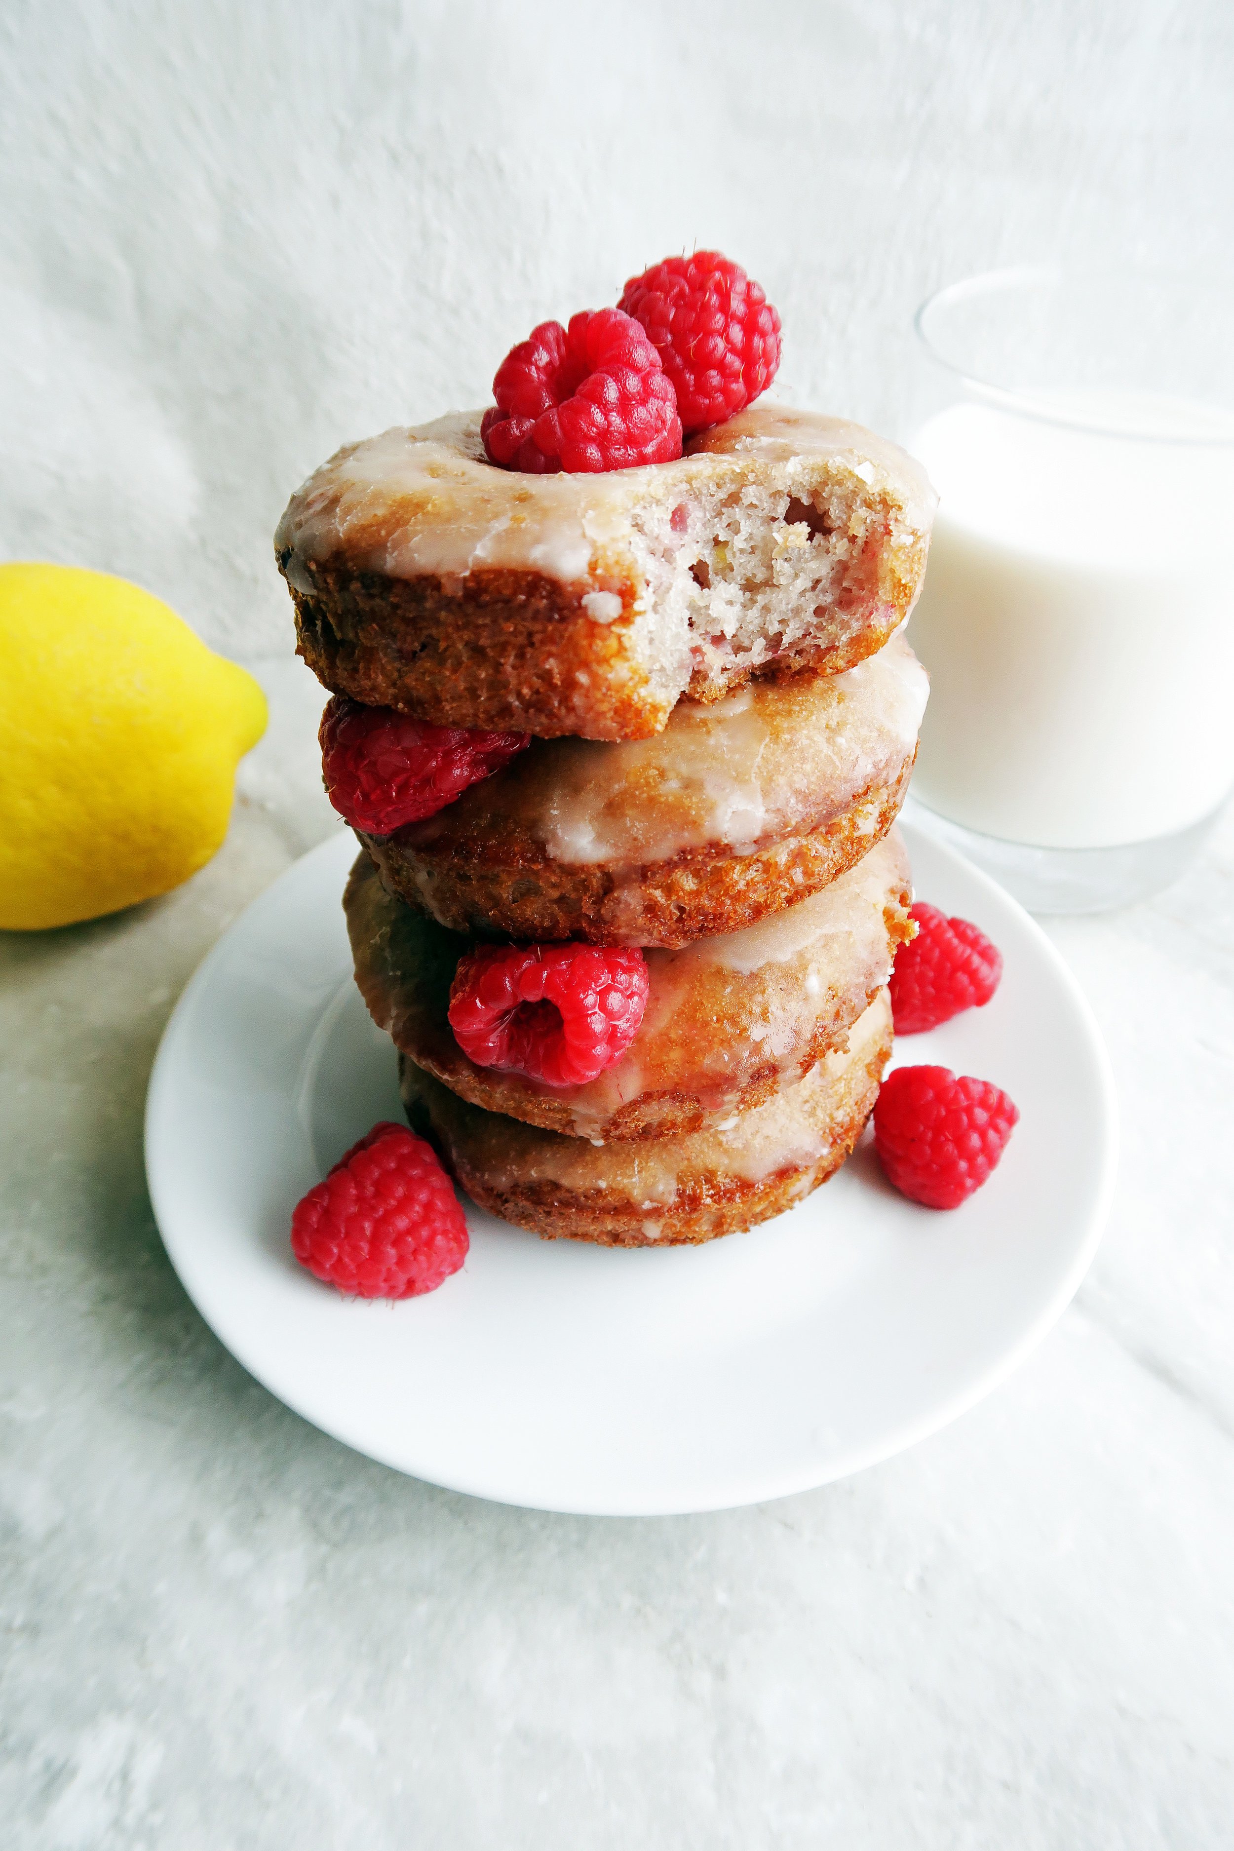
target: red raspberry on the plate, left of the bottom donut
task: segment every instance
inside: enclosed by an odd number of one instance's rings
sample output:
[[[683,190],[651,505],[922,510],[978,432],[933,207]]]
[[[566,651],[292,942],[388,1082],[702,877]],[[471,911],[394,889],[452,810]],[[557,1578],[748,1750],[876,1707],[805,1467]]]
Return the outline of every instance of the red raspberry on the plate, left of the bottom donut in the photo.
[[[420,1298],[463,1266],[468,1238],[433,1148],[383,1122],[296,1203],[290,1246],[340,1292]]]

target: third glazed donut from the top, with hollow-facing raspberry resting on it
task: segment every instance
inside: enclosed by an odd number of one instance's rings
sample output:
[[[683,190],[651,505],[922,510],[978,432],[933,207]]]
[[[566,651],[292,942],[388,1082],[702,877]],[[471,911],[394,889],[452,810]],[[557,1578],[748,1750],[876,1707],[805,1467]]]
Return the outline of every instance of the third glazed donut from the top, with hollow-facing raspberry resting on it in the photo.
[[[450,1029],[450,985],[474,938],[392,900],[366,855],[342,901],[355,981],[401,1053],[472,1105],[594,1144],[714,1129],[845,1048],[912,935],[910,903],[892,835],[759,926],[648,951],[648,1009],[629,1050],[585,1087],[546,1087],[475,1066]]]

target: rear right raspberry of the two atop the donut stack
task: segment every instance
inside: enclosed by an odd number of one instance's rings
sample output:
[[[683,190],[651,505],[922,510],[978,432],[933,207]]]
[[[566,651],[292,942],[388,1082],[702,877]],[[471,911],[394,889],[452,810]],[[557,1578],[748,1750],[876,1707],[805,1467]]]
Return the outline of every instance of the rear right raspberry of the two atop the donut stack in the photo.
[[[659,348],[686,437],[723,424],[775,378],[781,318],[740,263],[718,250],[666,257],[631,276],[620,305]]]

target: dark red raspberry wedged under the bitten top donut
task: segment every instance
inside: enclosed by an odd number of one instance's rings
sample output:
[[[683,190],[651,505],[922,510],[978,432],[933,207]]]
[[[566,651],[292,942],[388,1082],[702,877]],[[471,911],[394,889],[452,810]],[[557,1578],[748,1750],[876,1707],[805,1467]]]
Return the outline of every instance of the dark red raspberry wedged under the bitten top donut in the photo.
[[[531,744],[529,733],[426,726],[396,707],[361,707],[346,694],[326,703],[318,739],[329,801],[368,835],[392,835],[405,822],[435,816]]]

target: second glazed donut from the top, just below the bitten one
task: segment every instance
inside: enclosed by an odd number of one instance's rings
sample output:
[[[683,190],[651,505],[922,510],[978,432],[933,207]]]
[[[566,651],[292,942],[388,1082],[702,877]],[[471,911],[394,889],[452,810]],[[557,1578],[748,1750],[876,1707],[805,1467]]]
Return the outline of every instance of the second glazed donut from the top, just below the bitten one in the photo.
[[[453,931],[679,948],[805,900],[886,835],[927,692],[895,637],[840,676],[683,702],[648,740],[533,740],[437,816],[361,840]]]

